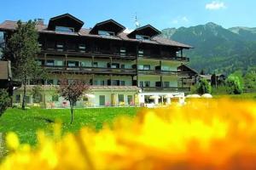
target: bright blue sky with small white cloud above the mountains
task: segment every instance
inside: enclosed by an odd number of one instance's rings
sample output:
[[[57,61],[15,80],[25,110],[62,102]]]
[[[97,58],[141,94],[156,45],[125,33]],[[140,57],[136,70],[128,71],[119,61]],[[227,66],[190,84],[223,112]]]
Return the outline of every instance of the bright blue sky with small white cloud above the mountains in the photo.
[[[255,0],[3,0],[0,22],[29,20],[59,14],[73,14],[92,27],[102,20],[117,20],[134,29],[134,18],[140,24],[167,27],[196,26],[215,22],[226,28],[256,27]]]

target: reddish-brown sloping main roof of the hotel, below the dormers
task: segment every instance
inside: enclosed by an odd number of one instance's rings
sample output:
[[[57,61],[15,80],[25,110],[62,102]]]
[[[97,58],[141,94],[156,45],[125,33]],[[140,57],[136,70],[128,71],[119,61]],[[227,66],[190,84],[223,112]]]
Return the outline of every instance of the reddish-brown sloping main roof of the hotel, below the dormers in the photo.
[[[16,21],[6,20],[2,24],[0,24],[0,31],[15,31],[17,26]],[[107,39],[114,39],[114,40],[124,40],[130,42],[143,42],[143,43],[153,43],[153,44],[160,44],[166,46],[174,46],[178,48],[192,48],[189,45],[175,42],[170,39],[166,39],[164,37],[153,37],[150,40],[137,40],[135,38],[128,37],[127,33],[121,32],[117,36],[108,36],[102,37],[100,35],[90,34],[90,29],[81,28],[79,32],[61,32],[61,31],[52,31],[48,30],[48,26],[46,25],[36,25],[39,33],[49,33],[49,34],[60,34],[60,35],[68,35],[68,36],[80,36],[80,37],[97,37],[97,38],[107,38]]]

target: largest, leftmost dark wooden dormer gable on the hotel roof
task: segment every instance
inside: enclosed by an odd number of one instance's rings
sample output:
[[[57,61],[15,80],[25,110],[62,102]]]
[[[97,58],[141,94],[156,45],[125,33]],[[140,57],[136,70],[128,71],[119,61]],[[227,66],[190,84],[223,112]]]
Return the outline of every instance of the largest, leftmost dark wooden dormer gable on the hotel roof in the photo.
[[[78,32],[82,26],[84,26],[84,22],[77,19],[72,14],[61,14],[49,20],[48,29],[55,30],[55,26],[73,27],[74,30]]]

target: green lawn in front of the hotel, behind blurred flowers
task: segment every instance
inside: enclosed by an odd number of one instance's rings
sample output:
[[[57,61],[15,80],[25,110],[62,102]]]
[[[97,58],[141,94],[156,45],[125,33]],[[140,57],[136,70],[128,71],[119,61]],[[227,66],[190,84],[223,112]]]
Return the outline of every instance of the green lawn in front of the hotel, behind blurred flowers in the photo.
[[[0,118],[0,132],[18,133],[21,143],[35,144],[38,129],[49,131],[52,122],[59,119],[63,122],[64,132],[76,132],[80,127],[89,126],[96,130],[103,123],[111,123],[116,116],[135,116],[137,108],[96,108],[77,109],[74,122],[70,125],[70,110],[9,109]]]

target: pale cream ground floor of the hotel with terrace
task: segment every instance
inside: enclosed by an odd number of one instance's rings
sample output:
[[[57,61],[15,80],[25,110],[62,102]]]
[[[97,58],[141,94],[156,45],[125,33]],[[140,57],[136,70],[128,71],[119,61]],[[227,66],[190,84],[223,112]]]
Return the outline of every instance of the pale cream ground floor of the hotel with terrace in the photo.
[[[27,86],[26,105],[40,106],[42,108],[68,108],[69,102],[56,92],[55,85],[44,85],[41,87],[39,97],[32,95],[33,85]],[[14,92],[13,105],[19,106],[23,99],[22,87]],[[172,102],[183,103],[183,92],[154,91],[145,92],[136,86],[90,86],[90,91],[76,102],[75,107],[129,107],[171,105]]]

